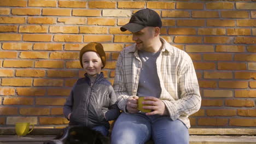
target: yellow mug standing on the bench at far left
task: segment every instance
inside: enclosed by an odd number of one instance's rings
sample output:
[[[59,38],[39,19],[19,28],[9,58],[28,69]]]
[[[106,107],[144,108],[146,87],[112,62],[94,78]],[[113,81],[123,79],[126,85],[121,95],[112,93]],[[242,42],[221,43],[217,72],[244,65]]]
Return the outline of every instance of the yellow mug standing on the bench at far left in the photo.
[[[32,129],[30,130],[30,123],[16,123],[15,131],[18,136],[25,136],[30,133],[34,129],[34,125],[32,124]],[[30,131],[28,131],[30,130]]]

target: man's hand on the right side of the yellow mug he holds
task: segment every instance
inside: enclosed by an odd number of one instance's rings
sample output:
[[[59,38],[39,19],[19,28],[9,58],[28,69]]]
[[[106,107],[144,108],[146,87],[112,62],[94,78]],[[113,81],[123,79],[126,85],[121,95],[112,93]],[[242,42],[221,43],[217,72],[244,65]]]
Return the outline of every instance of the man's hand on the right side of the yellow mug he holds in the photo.
[[[144,100],[148,101],[143,101],[142,104],[150,105],[150,106],[143,106],[143,109],[149,109],[153,110],[152,112],[147,112],[147,116],[151,115],[168,115],[168,110],[165,107],[164,102],[162,100],[155,98],[155,97],[144,97]]]

